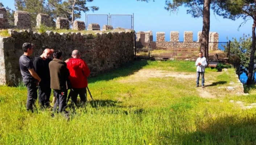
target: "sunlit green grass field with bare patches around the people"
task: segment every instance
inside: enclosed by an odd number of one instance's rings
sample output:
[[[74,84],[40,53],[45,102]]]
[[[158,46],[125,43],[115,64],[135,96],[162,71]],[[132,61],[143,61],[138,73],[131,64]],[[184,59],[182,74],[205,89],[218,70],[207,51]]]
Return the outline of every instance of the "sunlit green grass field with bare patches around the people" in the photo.
[[[207,68],[205,88],[195,77],[191,61],[135,61],[89,78],[94,101],[69,121],[26,112],[26,88],[0,86],[0,144],[255,145],[255,86],[244,95],[233,68]]]

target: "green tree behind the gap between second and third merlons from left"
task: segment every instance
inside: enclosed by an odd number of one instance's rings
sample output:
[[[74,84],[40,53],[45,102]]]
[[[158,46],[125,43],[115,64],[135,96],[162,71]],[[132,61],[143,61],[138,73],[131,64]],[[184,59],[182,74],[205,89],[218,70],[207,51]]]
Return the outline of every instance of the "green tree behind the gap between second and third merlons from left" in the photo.
[[[29,12],[32,18],[32,26],[36,26],[37,14],[48,14],[45,0],[15,0],[15,8]]]

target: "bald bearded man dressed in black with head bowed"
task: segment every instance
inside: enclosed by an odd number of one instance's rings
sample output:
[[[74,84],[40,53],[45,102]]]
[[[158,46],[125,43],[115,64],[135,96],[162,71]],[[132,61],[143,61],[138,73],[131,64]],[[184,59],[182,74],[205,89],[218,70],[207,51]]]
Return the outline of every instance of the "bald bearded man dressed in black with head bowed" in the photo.
[[[50,106],[50,70],[49,63],[52,59],[50,59],[50,55],[53,50],[46,48],[42,55],[38,56],[34,60],[34,68],[38,76],[42,79],[42,81],[38,85],[38,102],[41,108]]]

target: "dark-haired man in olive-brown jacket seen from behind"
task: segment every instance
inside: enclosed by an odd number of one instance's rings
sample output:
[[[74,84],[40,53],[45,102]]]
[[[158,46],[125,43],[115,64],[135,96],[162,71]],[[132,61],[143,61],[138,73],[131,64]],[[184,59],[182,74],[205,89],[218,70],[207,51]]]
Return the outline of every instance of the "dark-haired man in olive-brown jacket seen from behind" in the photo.
[[[67,113],[65,110],[67,104],[67,79],[69,77],[69,70],[67,64],[62,61],[62,52],[60,50],[53,51],[53,60],[49,63],[50,77],[51,77],[51,89],[53,89],[56,95],[56,102],[53,107],[53,111],[56,111],[57,106],[59,112]]]

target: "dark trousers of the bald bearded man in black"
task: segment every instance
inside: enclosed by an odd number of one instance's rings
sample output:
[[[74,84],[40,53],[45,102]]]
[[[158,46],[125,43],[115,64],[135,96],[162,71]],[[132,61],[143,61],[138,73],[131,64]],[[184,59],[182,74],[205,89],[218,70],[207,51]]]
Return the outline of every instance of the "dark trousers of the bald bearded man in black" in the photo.
[[[41,108],[50,106],[50,95],[51,95],[50,85],[40,84],[38,86],[38,102]]]

